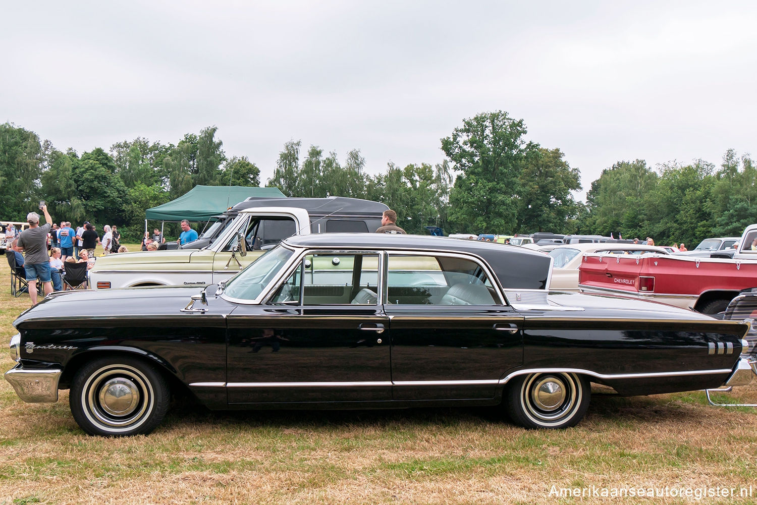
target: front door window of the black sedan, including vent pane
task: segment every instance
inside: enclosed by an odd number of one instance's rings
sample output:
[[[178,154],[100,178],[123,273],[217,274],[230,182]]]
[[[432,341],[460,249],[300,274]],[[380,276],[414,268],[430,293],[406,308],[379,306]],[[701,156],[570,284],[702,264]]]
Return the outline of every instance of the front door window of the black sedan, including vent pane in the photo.
[[[378,303],[378,254],[306,254],[269,303],[333,305]]]

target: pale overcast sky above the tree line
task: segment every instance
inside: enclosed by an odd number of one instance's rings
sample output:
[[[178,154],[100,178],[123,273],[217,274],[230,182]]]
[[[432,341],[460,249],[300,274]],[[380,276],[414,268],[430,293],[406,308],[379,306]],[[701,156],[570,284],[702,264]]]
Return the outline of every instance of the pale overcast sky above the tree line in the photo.
[[[585,192],[757,154],[755,26],[757,2],[4,2],[0,122],[79,154],[215,125],[265,182],[290,139],[379,173],[502,110]]]

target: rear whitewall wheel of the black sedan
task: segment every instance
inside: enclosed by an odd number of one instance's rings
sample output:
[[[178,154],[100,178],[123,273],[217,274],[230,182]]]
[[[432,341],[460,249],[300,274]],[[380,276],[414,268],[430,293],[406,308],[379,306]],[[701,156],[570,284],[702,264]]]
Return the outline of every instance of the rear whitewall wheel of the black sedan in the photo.
[[[507,410],[525,428],[569,428],[584,417],[590,384],[576,373],[531,373],[512,379]]]

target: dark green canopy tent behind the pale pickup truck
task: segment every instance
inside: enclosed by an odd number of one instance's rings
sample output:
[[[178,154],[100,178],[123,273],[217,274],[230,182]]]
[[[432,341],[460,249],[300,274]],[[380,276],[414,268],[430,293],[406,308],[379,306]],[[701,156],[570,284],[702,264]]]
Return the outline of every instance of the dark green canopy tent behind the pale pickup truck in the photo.
[[[223,214],[248,197],[286,197],[279,188],[255,188],[251,186],[196,185],[176,200],[152,207],[145,211],[145,232],[148,220],[156,221],[207,221]],[[160,226],[163,232],[163,226]]]

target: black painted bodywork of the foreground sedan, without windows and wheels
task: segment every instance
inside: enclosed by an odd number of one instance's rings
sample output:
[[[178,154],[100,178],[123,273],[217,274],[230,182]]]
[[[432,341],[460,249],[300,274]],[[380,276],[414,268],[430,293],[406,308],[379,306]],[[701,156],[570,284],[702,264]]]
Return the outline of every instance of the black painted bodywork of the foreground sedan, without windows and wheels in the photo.
[[[548,257],[506,245],[335,236],[344,249],[470,254],[487,262],[505,289],[547,282]],[[329,240],[308,235],[285,242],[312,250],[329,247]],[[494,405],[506,379],[531,369],[587,371],[620,394],[715,387],[730,375],[747,329],[625,298],[559,292],[550,295],[549,309],[291,307],[238,304],[213,296],[215,289],[205,288],[202,312],[182,312],[200,286],[54,295],[14,322],[20,366],[62,367],[59,387],[67,388],[83,363],[132,355],[154,363],[211,409]],[[734,354],[709,354],[712,342],[730,343]],[[724,371],[696,373],[710,369]],[[644,373],[681,375],[612,377]]]

